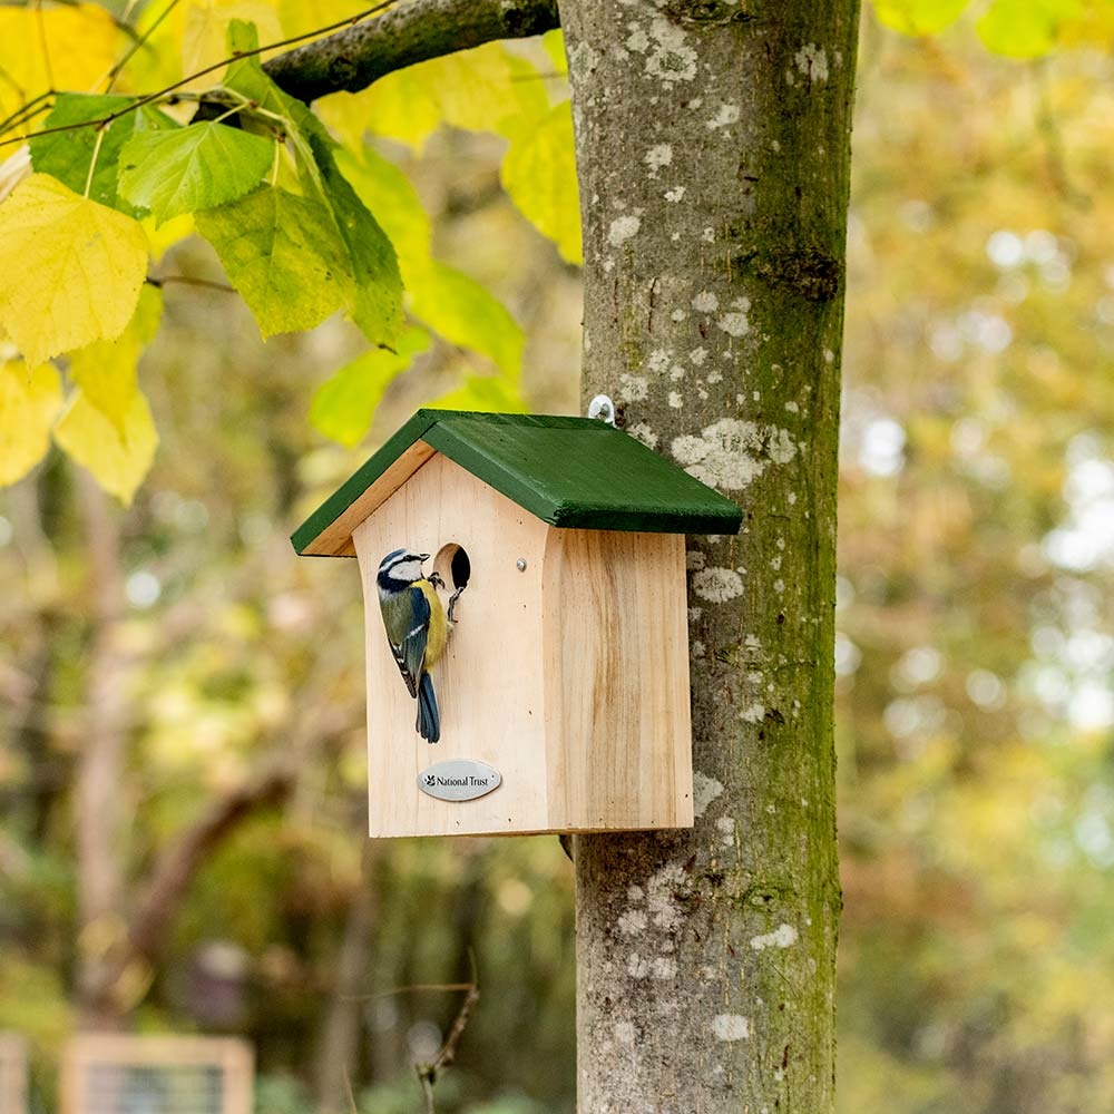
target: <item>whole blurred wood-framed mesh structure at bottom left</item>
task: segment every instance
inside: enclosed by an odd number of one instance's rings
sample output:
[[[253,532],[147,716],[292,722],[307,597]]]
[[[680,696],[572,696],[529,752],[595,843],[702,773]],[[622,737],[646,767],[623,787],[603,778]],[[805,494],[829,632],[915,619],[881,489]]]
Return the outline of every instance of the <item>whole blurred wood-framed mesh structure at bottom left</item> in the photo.
[[[254,1054],[231,1037],[82,1034],[62,1056],[60,1114],[252,1114]]]

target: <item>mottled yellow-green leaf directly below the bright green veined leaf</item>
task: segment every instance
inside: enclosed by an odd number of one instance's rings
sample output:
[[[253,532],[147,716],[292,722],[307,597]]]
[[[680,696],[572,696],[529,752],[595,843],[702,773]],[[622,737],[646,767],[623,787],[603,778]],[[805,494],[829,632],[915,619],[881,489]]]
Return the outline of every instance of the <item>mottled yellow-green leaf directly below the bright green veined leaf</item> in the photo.
[[[312,329],[343,304],[351,276],[320,202],[264,186],[196,219],[265,338]]]

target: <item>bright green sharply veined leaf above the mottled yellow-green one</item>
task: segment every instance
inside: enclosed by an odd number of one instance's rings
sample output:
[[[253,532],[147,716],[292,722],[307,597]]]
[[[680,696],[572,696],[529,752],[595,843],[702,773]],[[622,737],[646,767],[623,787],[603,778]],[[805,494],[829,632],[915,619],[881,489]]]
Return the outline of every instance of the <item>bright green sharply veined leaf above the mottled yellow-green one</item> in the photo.
[[[120,196],[162,224],[242,197],[271,169],[274,153],[272,139],[213,121],[140,131],[120,152]]]

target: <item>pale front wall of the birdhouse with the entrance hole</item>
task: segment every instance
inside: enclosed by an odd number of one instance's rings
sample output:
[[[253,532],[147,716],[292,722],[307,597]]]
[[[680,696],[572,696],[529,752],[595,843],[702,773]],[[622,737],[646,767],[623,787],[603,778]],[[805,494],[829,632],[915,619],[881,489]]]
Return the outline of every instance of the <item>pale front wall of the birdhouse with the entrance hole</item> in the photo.
[[[371,836],[550,829],[540,615],[546,530],[441,455],[356,528],[367,618]],[[430,744],[414,730],[416,703],[388,647],[375,575],[383,556],[400,546],[436,558],[450,544],[467,551],[471,579],[444,657],[431,673],[441,740]],[[519,559],[525,570],[517,568]],[[450,759],[486,762],[502,774],[502,784],[462,802],[419,791],[418,774]]]

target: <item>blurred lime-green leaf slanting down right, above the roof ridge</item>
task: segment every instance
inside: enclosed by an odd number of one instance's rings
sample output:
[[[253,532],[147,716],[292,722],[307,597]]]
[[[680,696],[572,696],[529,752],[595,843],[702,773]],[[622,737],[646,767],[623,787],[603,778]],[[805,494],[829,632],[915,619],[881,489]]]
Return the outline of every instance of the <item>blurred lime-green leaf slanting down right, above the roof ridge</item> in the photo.
[[[450,343],[486,355],[509,380],[518,381],[521,326],[475,278],[434,262],[411,293],[416,317]]]

